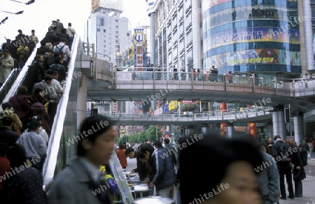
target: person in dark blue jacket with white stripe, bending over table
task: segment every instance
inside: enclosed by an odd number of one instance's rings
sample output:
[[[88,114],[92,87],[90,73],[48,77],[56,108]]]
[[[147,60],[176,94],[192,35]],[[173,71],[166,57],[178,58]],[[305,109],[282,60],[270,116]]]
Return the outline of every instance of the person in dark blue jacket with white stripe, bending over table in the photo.
[[[177,176],[167,153],[165,149],[154,149],[152,145],[144,144],[140,147],[138,158],[151,167],[144,183],[147,183],[149,188],[155,186],[158,196],[171,198],[171,190],[177,182]]]

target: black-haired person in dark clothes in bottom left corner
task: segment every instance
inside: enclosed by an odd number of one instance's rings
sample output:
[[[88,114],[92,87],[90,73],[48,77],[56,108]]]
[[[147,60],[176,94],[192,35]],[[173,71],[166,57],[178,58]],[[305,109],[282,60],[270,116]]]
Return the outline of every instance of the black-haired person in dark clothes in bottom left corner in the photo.
[[[6,157],[12,170],[3,182],[0,203],[45,204],[43,179],[36,168],[27,164],[25,148],[15,143],[8,149]]]

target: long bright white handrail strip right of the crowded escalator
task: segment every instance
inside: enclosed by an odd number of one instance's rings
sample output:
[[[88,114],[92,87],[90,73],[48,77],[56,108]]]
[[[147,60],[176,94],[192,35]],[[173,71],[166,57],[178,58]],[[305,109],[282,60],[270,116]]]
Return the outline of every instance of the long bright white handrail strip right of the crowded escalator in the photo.
[[[69,94],[71,89],[72,76],[74,71],[74,64],[76,61],[76,55],[78,52],[78,45],[80,37],[75,35],[73,38],[73,45],[71,49],[71,60],[69,62],[68,76],[66,78],[66,84],[64,85],[64,94],[57,106],[57,112],[55,115],[54,123],[52,125],[50,139],[48,142],[47,154],[45,163],[43,165],[43,190],[48,191],[50,183],[55,175],[55,168],[57,165],[57,156],[60,147],[60,140],[62,138],[62,131],[64,126],[64,118],[66,117],[66,108],[69,101]]]

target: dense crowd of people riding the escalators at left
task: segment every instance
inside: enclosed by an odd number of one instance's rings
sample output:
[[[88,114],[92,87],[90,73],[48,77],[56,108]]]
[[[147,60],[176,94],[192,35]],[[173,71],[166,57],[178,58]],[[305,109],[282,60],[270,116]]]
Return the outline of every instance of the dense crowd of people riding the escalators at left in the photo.
[[[41,171],[76,34],[68,25],[53,20],[41,41],[34,29],[29,36],[19,29],[15,41],[7,38],[1,47],[0,85],[13,68],[28,70],[16,94],[1,104],[0,203],[45,203]],[[27,67],[31,52],[36,57]]]

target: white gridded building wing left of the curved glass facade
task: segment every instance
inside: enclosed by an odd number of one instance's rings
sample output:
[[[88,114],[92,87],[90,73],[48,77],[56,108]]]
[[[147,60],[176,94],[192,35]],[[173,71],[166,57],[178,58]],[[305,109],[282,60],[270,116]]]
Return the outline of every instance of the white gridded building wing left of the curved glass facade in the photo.
[[[176,66],[180,71],[202,68],[200,0],[148,2],[151,58],[155,66]]]

